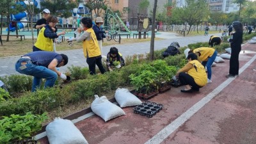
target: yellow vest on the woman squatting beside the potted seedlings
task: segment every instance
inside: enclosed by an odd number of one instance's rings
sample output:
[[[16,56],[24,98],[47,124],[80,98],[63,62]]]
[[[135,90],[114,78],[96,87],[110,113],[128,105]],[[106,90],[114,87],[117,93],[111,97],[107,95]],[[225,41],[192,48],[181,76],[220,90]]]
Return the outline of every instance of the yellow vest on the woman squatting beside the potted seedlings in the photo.
[[[193,65],[193,68],[188,70],[189,76],[194,78],[198,86],[205,86],[207,84],[207,75],[204,66],[198,60],[189,61],[189,63]]]

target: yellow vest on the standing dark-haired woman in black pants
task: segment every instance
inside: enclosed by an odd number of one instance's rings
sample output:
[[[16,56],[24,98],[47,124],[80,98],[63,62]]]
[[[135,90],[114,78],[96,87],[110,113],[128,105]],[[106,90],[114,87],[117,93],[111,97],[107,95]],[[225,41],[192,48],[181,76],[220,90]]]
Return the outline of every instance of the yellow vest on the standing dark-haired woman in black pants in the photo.
[[[93,29],[86,29],[86,32],[90,34],[90,38],[86,38],[86,40],[83,41],[83,51],[85,58],[100,56],[100,47]]]

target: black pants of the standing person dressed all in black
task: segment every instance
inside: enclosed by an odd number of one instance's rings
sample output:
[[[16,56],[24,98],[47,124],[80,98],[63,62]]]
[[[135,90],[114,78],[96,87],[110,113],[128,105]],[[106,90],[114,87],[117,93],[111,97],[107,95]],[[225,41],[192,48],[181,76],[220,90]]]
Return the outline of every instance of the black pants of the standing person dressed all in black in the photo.
[[[231,56],[229,61],[229,74],[238,75],[239,74],[239,53],[241,51],[240,45],[231,45]]]

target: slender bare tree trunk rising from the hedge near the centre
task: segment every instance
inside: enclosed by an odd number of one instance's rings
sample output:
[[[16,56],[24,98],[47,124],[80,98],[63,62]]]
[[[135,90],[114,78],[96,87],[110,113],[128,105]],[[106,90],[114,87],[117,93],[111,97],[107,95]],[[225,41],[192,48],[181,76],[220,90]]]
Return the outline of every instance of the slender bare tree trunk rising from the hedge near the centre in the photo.
[[[152,17],[152,28],[151,28],[151,40],[150,40],[150,57],[149,60],[154,60],[154,43],[155,43],[155,21],[156,21],[156,7],[157,7],[157,0],[155,0],[154,8],[153,8],[153,17]]]

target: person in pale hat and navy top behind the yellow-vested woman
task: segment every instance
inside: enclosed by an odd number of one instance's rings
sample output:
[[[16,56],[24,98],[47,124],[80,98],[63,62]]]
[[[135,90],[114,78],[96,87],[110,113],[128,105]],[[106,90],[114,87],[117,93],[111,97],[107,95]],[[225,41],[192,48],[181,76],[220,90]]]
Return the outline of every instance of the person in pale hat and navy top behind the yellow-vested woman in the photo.
[[[97,17],[96,18],[96,24],[93,26],[93,31],[94,31],[94,33],[97,37],[101,53],[102,53],[102,39],[106,38],[104,33],[108,33],[108,31],[102,31],[102,29],[100,28],[100,26],[102,26],[103,23],[104,22],[103,22],[102,18]]]

